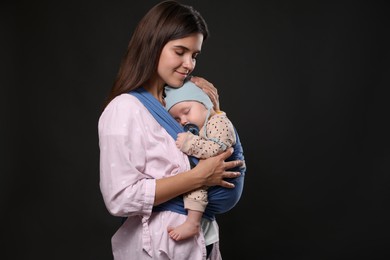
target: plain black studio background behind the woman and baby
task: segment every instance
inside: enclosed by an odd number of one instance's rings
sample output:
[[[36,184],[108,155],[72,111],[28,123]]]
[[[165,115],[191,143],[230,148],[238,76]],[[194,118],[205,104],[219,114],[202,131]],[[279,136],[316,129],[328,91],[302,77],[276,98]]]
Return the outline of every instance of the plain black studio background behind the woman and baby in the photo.
[[[112,259],[97,120],[157,2],[0,4],[2,259]],[[387,1],[182,2],[248,167],[217,217],[224,260],[388,259]]]

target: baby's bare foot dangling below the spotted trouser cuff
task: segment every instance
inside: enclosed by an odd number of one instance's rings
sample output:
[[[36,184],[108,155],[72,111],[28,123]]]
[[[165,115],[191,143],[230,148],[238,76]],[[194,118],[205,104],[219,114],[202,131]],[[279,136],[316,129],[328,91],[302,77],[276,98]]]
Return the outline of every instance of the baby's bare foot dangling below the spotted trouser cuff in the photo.
[[[169,236],[176,241],[193,237],[200,232],[200,221],[203,213],[196,210],[188,210],[188,216],[183,224],[168,228]]]

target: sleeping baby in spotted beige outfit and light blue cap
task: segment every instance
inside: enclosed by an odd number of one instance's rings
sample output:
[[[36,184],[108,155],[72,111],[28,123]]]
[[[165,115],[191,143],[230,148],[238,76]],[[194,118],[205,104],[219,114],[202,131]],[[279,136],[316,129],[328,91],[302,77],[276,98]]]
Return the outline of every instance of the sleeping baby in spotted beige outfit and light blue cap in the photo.
[[[202,159],[218,155],[235,144],[235,130],[226,113],[215,111],[208,95],[193,82],[187,81],[180,88],[166,86],[165,95],[165,108],[173,118],[184,127],[199,129],[178,134],[176,146],[182,152]],[[199,233],[208,203],[207,187],[185,194],[183,199],[188,210],[187,219],[168,229],[170,237],[177,241]]]

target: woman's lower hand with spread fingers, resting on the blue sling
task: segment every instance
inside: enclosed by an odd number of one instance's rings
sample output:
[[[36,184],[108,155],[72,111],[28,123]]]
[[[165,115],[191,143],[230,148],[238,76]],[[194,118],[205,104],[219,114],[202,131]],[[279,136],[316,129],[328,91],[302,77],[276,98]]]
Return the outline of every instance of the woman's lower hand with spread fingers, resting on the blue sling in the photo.
[[[202,174],[202,176],[205,178],[204,185],[219,185],[225,188],[234,188],[234,184],[224,179],[240,176],[240,172],[232,172],[228,170],[243,165],[243,161],[236,160],[225,162],[225,160],[229,158],[232,153],[233,148],[229,148],[220,155],[213,156],[208,159],[199,160],[199,163],[197,164],[195,169],[199,171],[199,174]]]

